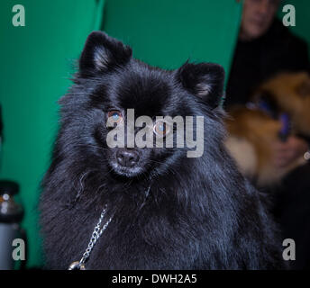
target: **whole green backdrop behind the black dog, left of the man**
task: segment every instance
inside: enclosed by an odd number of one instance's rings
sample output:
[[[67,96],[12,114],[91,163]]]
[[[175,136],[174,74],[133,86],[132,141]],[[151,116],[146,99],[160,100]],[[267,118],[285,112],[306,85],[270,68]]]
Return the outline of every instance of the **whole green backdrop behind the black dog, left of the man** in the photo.
[[[14,4],[24,5],[25,27],[12,25]],[[227,71],[241,8],[232,0],[0,2],[0,103],[5,123],[0,178],[21,184],[28,266],[42,262],[36,205],[58,126],[57,100],[70,85],[74,59],[89,31],[104,29],[131,44],[134,56],[151,65],[175,68],[190,58],[218,62]]]

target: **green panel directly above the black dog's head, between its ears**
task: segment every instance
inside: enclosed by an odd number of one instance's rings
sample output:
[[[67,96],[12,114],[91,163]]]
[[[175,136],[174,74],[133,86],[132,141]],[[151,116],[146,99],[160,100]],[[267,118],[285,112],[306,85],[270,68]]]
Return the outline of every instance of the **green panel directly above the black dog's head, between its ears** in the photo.
[[[176,68],[189,58],[228,71],[241,10],[232,0],[107,0],[103,30],[150,65]]]

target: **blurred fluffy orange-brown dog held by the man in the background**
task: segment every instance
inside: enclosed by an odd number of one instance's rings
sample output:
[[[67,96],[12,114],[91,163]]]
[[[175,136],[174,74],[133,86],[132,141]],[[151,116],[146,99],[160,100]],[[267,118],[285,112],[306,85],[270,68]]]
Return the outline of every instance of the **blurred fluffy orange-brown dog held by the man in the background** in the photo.
[[[307,73],[283,73],[259,87],[254,103],[268,95],[278,112],[290,116],[293,134],[310,136],[310,76]],[[282,168],[273,166],[271,145],[278,140],[281,122],[266,112],[235,106],[229,111],[226,146],[242,173],[260,185],[277,183],[287,172],[305,164],[304,157]]]

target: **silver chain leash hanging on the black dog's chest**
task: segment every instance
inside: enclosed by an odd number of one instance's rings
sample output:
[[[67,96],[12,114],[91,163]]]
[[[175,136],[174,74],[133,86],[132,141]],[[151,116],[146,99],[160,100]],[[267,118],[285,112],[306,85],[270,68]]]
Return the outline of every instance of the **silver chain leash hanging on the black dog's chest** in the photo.
[[[90,256],[90,253],[93,250],[96,244],[96,241],[98,240],[98,238],[100,238],[100,236],[102,235],[102,233],[105,231],[105,229],[107,228],[107,226],[112,220],[112,217],[111,217],[109,220],[105,222],[105,225],[102,228],[100,228],[101,222],[105,217],[105,212],[106,212],[106,206],[105,206],[105,209],[101,212],[98,223],[96,224],[92,237],[89,240],[87,249],[85,250],[82,258],[79,261],[75,261],[71,263],[70,266],[68,266],[68,270],[86,270],[85,263],[87,262],[87,259]]]

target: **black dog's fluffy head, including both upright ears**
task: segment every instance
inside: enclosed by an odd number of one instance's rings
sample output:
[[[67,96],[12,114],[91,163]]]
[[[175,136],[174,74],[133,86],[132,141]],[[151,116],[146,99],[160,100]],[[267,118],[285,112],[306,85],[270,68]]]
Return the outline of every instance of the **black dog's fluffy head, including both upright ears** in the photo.
[[[185,120],[212,111],[223,92],[223,68],[209,63],[186,63],[174,71],[149,67],[132,58],[128,46],[97,31],[88,36],[75,82],[60,104],[63,118],[77,119],[79,153],[91,155],[113,175],[132,178],[167,173],[187,157],[187,147],[177,147],[178,125],[159,118]],[[141,117],[147,121],[139,124]],[[168,137],[172,148],[157,147],[157,141],[165,147]]]

